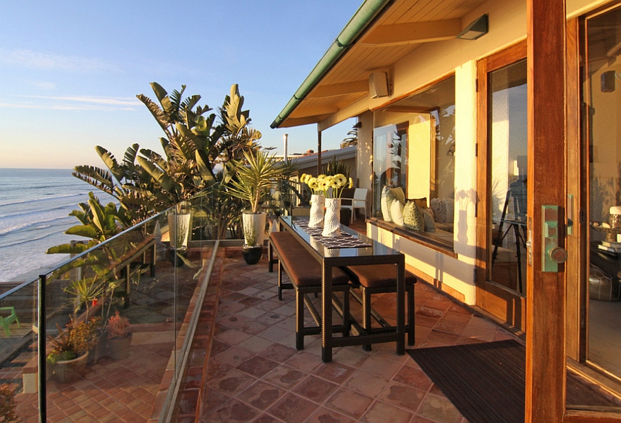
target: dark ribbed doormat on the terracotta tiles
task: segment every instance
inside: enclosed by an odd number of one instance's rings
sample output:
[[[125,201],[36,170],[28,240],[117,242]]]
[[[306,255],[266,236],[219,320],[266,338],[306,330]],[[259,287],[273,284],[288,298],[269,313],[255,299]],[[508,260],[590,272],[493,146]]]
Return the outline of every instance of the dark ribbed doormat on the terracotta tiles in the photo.
[[[524,346],[513,340],[407,350],[470,423],[524,422]],[[567,375],[567,404],[618,406]]]

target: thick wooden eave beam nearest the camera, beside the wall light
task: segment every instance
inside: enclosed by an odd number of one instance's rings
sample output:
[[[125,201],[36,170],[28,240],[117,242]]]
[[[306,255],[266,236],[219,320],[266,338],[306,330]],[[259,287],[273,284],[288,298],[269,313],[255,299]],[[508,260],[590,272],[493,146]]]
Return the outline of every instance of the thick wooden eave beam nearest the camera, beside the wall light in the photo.
[[[461,19],[382,25],[368,32],[359,44],[377,47],[441,41],[454,39],[461,30]]]

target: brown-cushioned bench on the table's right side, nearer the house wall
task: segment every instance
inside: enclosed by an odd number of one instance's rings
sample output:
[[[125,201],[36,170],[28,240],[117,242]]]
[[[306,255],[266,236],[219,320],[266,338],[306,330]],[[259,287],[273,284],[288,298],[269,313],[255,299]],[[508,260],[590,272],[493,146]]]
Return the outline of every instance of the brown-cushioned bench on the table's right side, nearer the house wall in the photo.
[[[349,276],[351,283],[359,288],[360,295],[351,291],[351,295],[362,304],[362,328],[366,333],[377,333],[379,331],[392,331],[391,326],[386,320],[371,307],[371,295],[379,293],[397,292],[397,266],[394,264],[374,264],[373,266],[347,266],[343,270]],[[417,279],[409,272],[405,273],[405,289],[408,297],[406,313],[408,321],[406,331],[408,333],[408,345],[414,345],[414,284]],[[371,317],[382,327],[372,328]],[[366,351],[371,351],[371,345],[364,345]]]

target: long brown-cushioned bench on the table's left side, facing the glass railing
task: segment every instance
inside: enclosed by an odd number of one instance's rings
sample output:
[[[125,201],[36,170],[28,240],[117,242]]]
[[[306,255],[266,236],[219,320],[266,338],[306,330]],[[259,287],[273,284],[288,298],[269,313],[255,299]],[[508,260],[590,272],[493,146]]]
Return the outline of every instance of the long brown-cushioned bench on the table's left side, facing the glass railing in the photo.
[[[321,315],[307,294],[322,292],[322,265],[300,244],[294,235],[283,231],[270,233],[268,245],[270,264],[275,256],[278,263],[278,298],[282,299],[282,289],[295,289],[295,348],[304,349],[304,336],[321,333]],[[282,282],[282,271],[288,275],[290,284]],[[343,302],[333,296],[333,304],[343,317],[342,325],[333,326],[333,332],[349,335],[349,277],[339,268],[333,269],[333,291],[343,293]],[[304,304],[308,306],[317,326],[304,326]]]

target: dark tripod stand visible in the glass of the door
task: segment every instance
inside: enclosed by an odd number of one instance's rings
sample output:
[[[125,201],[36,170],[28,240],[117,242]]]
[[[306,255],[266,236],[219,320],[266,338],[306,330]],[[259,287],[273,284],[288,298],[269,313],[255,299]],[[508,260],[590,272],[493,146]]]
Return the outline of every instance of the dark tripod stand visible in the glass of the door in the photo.
[[[513,199],[513,214],[515,219],[506,219],[506,209],[509,201]],[[504,228],[504,225],[507,225]],[[522,230],[520,231],[520,228]],[[503,231],[504,230],[504,231]],[[504,199],[504,207],[500,216],[500,225],[498,226],[498,235],[494,242],[494,252],[492,253],[492,266],[496,260],[498,246],[502,244],[506,235],[513,230],[515,236],[515,254],[517,256],[517,287],[522,293],[522,247],[526,248],[526,183],[522,179],[509,184],[509,190],[506,192]]]

